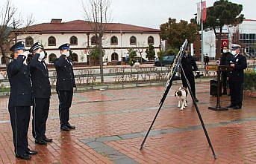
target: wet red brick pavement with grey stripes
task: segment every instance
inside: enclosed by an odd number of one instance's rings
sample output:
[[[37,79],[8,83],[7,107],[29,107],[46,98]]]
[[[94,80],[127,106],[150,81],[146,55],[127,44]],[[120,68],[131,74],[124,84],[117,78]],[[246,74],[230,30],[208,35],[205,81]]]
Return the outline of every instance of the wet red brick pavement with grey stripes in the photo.
[[[156,114],[163,86],[75,93],[70,123],[75,131],[61,132],[57,95],[51,97],[47,122],[48,145],[30,161],[17,160],[13,153],[7,97],[0,98],[0,163],[256,163],[256,99],[244,97],[243,109],[210,111],[216,104],[209,83],[196,84],[199,109],[217,160],[205,138],[192,101],[184,111],[177,108],[174,85],[140,151],[140,144]],[[229,97],[221,97],[229,105]]]

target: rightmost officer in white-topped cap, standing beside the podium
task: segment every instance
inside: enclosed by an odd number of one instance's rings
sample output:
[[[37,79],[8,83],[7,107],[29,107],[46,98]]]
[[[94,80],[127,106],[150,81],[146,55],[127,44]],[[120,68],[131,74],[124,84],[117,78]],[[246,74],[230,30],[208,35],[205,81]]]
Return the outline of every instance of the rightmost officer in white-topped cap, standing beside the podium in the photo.
[[[231,105],[229,105],[228,108],[240,109],[242,108],[243,102],[243,70],[247,68],[247,61],[246,57],[240,53],[239,47],[235,47],[234,50],[232,50],[232,54],[234,58],[232,59],[231,67],[234,69],[231,70],[229,76]]]

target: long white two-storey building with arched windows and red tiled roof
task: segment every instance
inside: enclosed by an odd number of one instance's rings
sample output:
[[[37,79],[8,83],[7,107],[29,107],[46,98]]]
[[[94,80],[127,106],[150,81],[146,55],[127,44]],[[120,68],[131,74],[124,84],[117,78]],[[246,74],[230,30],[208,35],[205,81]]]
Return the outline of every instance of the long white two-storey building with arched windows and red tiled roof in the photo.
[[[51,19],[50,23],[31,26],[26,33],[18,35],[17,41],[24,41],[26,49],[35,42],[40,42],[48,54],[47,63],[60,56],[57,47],[69,43],[73,62],[93,64],[89,53],[96,46],[96,36],[90,22],[61,22],[61,19]],[[156,52],[160,49],[160,30],[131,24],[106,24],[102,44],[104,62],[123,61],[128,56],[129,48],[140,50],[142,57],[146,59],[146,48],[149,45],[154,45]],[[137,56],[140,53],[137,52]]]

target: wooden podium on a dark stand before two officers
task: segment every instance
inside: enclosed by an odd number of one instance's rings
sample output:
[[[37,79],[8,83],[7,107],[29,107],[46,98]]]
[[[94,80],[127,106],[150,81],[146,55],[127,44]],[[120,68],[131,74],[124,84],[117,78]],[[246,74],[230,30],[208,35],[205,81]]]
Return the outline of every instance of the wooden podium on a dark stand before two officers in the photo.
[[[208,107],[208,109],[213,110],[213,111],[227,111],[228,108],[223,108],[219,104],[219,97],[220,93],[219,90],[222,86],[220,86],[220,73],[224,71],[231,71],[233,70],[232,67],[227,66],[227,65],[207,65],[205,67],[206,70],[215,70],[217,72],[217,102],[215,107]]]

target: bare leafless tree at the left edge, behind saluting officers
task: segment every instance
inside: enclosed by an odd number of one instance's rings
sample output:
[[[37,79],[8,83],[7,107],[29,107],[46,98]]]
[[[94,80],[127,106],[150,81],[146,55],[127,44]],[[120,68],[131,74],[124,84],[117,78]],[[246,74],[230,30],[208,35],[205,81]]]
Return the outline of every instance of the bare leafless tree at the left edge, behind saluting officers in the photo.
[[[6,64],[9,63],[10,58],[7,55],[7,49],[13,41],[16,42],[17,36],[24,33],[33,22],[32,15],[24,21],[10,0],[6,0],[5,5],[0,7],[0,50]],[[18,29],[19,33],[16,33]]]

